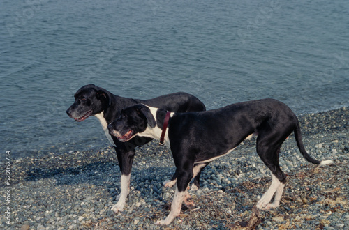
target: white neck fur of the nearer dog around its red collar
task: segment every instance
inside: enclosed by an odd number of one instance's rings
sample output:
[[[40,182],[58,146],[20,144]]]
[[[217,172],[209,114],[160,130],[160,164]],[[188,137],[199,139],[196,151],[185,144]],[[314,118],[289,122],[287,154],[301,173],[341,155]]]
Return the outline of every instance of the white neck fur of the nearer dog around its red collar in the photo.
[[[148,106],[149,107],[149,106]],[[161,133],[163,132],[163,121],[165,120],[165,110],[159,110],[155,107],[149,107],[151,114],[156,120],[156,126],[151,128],[148,124],[148,127],[144,132],[140,132],[138,135],[141,137],[151,137],[156,140],[160,140]],[[170,114],[170,117],[173,116],[173,112]],[[165,137],[163,143],[170,148],[170,140],[168,139],[168,127],[165,130]]]

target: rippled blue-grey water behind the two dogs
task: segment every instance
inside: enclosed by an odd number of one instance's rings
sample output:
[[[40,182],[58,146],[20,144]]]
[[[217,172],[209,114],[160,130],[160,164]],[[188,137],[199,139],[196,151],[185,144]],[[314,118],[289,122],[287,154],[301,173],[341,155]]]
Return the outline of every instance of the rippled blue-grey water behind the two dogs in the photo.
[[[186,91],[208,109],[276,98],[297,114],[349,105],[349,1],[0,3],[0,139],[13,156],[109,143],[66,116],[94,83],[152,98]]]

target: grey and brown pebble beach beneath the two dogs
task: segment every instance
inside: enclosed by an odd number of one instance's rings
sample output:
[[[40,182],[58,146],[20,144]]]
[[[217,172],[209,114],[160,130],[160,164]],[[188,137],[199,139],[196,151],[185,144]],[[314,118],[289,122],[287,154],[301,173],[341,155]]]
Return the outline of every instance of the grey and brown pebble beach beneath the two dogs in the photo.
[[[281,204],[260,210],[257,229],[349,229],[348,114],[342,108],[299,116],[307,151],[335,163],[316,167],[306,162],[291,135],[280,155],[288,175]],[[174,172],[171,153],[156,141],[138,149],[131,193],[117,214],[110,208],[120,192],[120,173],[110,147],[36,154],[14,160],[11,169],[11,220],[8,224],[4,218],[3,195],[0,229],[163,229],[154,223],[168,215],[174,194],[174,188],[162,185]],[[244,227],[271,182],[255,153],[255,138],[212,162],[201,178],[200,190],[190,191],[195,208],[183,207],[171,229]]]

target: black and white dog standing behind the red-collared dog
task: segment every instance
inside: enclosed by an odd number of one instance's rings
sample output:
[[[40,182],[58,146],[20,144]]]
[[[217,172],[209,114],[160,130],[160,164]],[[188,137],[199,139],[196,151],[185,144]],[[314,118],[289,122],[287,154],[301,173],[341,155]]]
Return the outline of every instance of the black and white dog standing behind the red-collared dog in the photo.
[[[121,194],[119,201],[112,207],[112,210],[117,213],[121,211],[126,202],[129,193],[130,176],[132,169],[133,157],[135,148],[147,144],[152,138],[149,137],[132,137],[128,141],[119,141],[116,137],[110,136],[107,125],[114,121],[122,109],[143,103],[145,105],[159,107],[172,112],[190,112],[190,111],[205,111],[205,105],[193,95],[188,93],[172,93],[163,95],[158,98],[149,100],[122,98],[110,93],[109,91],[88,84],[82,86],[74,95],[75,102],[67,109],[66,113],[75,121],[84,121],[89,116],[96,116],[101,122],[107,139],[117,151],[117,160],[121,171]],[[165,184],[170,186],[177,176],[174,174],[172,181]],[[194,184],[199,186],[200,174],[195,178]]]

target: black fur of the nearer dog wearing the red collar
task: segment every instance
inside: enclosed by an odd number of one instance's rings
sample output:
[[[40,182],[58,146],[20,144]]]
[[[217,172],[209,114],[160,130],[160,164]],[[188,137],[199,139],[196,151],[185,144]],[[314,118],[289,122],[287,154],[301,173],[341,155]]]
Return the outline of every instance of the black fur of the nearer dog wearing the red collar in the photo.
[[[145,107],[135,105],[124,110],[128,119],[119,118],[108,128],[120,131],[129,123],[143,119],[135,133],[147,129],[146,116],[137,110]],[[150,113],[150,110],[143,109]],[[158,127],[164,118],[164,111],[158,109],[156,122]],[[161,121],[159,121],[161,119]],[[162,127],[161,127],[162,128]],[[168,139],[176,165],[178,190],[185,191],[193,177],[193,167],[206,166],[212,159],[228,153],[251,134],[258,135],[257,153],[272,174],[285,183],[286,176],[279,166],[281,144],[295,132],[297,146],[304,158],[313,164],[320,161],[311,158],[302,144],[297,116],[282,102],[273,99],[254,100],[228,105],[221,109],[206,112],[175,113],[168,124]]]

